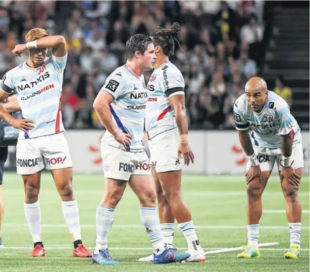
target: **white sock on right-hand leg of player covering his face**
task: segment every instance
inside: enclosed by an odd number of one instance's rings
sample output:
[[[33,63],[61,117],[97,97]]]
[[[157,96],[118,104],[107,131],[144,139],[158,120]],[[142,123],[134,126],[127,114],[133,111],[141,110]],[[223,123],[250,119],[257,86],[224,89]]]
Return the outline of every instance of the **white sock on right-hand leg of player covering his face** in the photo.
[[[73,240],[81,240],[81,226],[79,217],[79,207],[76,200],[62,201],[62,215]]]

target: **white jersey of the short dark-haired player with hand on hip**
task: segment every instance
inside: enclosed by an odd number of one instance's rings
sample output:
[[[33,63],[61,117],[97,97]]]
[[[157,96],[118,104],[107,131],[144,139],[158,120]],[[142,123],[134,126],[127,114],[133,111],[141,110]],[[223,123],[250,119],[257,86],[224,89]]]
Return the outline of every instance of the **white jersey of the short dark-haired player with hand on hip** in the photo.
[[[101,90],[114,97],[109,108],[115,125],[132,137],[130,147],[126,151],[143,151],[144,116],[147,104],[147,86],[143,74],[138,77],[123,65],[109,75]],[[107,130],[102,136],[102,142],[125,150]]]

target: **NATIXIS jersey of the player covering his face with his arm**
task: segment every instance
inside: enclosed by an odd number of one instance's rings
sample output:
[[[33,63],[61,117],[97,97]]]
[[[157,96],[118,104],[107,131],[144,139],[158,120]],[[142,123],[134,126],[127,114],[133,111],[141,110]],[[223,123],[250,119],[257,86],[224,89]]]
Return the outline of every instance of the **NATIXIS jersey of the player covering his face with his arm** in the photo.
[[[26,62],[8,71],[1,82],[1,89],[17,94],[22,117],[35,122],[34,128],[25,133],[20,130],[18,139],[53,135],[65,131],[62,125],[61,93],[63,73],[67,63],[64,57],[46,57],[38,68]]]

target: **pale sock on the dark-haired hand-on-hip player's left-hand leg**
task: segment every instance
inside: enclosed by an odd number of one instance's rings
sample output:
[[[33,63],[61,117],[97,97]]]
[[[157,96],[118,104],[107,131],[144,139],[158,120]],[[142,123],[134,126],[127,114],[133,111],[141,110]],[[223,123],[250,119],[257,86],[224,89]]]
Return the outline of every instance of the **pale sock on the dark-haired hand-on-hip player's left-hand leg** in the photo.
[[[103,205],[97,206],[96,211],[96,247],[95,254],[99,253],[99,250],[107,248],[107,235],[113,224],[114,209],[107,208]]]

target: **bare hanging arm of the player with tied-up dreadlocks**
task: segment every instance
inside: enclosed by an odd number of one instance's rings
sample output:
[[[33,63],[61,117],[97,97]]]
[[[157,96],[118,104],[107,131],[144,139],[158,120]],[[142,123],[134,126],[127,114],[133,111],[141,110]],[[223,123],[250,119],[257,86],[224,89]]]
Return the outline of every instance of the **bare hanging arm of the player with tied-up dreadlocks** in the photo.
[[[175,121],[180,132],[180,146],[177,149],[177,156],[183,155],[184,164],[194,163],[194,153],[189,147],[189,129],[187,125],[187,114],[185,108],[185,95],[173,95],[168,98],[170,106],[175,111]]]

